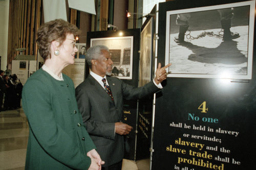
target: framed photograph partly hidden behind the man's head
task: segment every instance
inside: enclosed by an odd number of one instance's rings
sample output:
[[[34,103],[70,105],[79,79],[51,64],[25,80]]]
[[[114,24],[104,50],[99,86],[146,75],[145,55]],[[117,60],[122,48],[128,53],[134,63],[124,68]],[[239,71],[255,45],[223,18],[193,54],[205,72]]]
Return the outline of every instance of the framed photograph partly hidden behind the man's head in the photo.
[[[112,75],[119,79],[132,79],[133,36],[91,38],[91,46],[105,45],[113,61]]]

